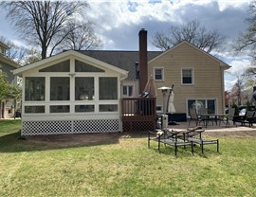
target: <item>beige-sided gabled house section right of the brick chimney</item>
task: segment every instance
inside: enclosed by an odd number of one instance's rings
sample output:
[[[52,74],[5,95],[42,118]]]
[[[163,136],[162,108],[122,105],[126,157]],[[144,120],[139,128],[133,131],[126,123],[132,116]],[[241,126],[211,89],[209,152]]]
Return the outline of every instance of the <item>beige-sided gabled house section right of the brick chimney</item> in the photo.
[[[156,88],[174,84],[176,113],[188,116],[191,107],[205,107],[212,114],[223,114],[224,71],[229,67],[198,47],[182,42],[149,61],[148,76],[154,76]],[[163,112],[160,91],[156,106],[158,112]]]

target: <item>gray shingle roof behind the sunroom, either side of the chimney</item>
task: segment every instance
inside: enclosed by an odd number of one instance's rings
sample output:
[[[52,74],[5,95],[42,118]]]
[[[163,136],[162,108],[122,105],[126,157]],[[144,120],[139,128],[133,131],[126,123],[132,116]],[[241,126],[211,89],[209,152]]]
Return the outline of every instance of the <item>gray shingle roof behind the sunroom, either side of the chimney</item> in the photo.
[[[136,62],[139,61],[138,51],[115,50],[79,50],[82,54],[100,60],[104,63],[115,65],[129,71],[128,79],[136,79]],[[148,61],[160,55],[162,51],[148,51]]]

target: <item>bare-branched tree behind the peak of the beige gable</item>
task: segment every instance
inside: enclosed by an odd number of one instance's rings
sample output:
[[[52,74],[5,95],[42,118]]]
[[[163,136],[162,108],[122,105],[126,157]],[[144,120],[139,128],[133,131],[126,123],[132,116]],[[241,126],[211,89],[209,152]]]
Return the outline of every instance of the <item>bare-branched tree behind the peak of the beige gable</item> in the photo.
[[[172,26],[166,32],[156,32],[152,43],[161,50],[167,50],[173,45],[187,41],[210,53],[222,47],[225,40],[226,37],[217,30],[207,30],[206,27],[201,27],[198,21],[192,20],[181,27]]]

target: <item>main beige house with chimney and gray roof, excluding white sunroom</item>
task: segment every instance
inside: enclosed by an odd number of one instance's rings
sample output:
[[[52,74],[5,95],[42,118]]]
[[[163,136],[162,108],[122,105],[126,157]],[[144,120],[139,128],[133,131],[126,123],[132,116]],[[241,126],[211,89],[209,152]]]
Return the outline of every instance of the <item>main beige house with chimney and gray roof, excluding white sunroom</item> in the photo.
[[[229,69],[229,64],[186,41],[165,52],[147,51],[146,56],[143,55],[145,51],[147,32],[141,29],[139,51],[81,52],[129,70],[128,78],[122,81],[122,98],[137,97],[143,91],[147,79],[154,76],[156,88],[172,87],[174,84],[175,114],[182,114],[186,118],[192,107],[197,110],[205,107],[211,114],[224,114],[224,71]],[[164,111],[164,98],[161,91],[158,90],[157,93],[156,111],[161,114]]]

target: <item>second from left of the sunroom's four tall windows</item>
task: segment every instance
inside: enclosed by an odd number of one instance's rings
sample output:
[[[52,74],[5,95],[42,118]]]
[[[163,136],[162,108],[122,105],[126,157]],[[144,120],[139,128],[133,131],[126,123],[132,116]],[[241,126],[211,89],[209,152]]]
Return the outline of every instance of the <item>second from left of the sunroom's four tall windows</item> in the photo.
[[[50,78],[50,100],[69,100],[69,78]]]

